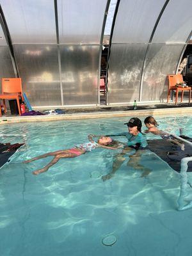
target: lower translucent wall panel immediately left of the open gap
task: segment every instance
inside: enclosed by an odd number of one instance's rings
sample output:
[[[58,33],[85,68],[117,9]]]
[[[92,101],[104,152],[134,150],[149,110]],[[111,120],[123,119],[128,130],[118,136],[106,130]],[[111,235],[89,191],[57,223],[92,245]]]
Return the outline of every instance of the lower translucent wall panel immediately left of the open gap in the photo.
[[[99,46],[60,47],[64,105],[97,104]]]

